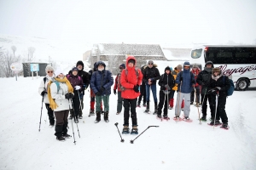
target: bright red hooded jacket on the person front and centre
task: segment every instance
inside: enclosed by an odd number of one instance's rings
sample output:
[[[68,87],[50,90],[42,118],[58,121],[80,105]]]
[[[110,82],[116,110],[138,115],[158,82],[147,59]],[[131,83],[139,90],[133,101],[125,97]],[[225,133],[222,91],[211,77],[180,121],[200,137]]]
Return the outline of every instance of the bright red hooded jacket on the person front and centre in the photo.
[[[128,66],[129,59],[135,60],[135,65],[132,68]],[[136,99],[140,95],[139,92],[137,93],[133,90],[134,86],[140,85],[143,81],[143,73],[140,69],[137,69],[138,71],[138,77],[137,77],[137,73],[135,70],[136,63],[137,63],[137,60],[135,59],[135,57],[129,56],[126,59],[127,75],[125,74],[125,69],[121,73],[120,83],[125,88],[125,90],[122,91],[121,96],[124,99]]]

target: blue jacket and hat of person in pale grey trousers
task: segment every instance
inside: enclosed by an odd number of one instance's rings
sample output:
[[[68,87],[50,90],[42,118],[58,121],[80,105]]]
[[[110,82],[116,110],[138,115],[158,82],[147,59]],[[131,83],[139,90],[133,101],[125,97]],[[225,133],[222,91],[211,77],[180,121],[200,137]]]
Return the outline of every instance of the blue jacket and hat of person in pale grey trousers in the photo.
[[[190,64],[189,64],[189,62],[186,61],[186,62],[184,62],[184,65],[190,65]],[[180,81],[181,77],[183,77],[182,81]],[[195,84],[195,77],[194,77],[194,74],[192,74],[190,72],[190,68],[188,70],[185,70],[183,68],[183,71],[180,71],[177,74],[175,82],[178,84],[177,85],[177,92],[179,92],[180,88],[181,88],[181,92],[183,94],[190,94],[192,92],[192,89],[193,89],[192,86],[193,86],[193,84]]]

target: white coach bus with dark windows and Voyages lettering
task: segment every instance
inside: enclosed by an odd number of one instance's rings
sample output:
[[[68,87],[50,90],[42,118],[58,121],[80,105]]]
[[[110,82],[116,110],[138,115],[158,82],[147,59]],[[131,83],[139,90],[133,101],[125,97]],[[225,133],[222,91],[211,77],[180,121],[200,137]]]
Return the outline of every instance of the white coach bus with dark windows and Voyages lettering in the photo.
[[[225,75],[232,75],[236,90],[256,87],[256,45],[203,45],[191,50],[191,65],[203,70],[209,60]]]

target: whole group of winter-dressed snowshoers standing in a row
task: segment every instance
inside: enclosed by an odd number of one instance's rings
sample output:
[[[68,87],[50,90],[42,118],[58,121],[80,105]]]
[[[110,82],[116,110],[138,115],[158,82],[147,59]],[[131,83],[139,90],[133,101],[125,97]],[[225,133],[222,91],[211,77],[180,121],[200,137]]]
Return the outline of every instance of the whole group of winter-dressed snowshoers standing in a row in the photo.
[[[71,138],[67,134],[67,119],[70,112],[70,119],[78,123],[83,118],[84,90],[90,87],[90,115],[94,115],[96,103],[96,123],[101,121],[109,122],[109,96],[113,85],[111,71],[106,70],[103,61],[94,64],[94,68],[89,72],[84,71],[84,63],[78,61],[67,75],[52,66],[45,68],[46,77],[40,83],[38,93],[42,95],[49,115],[49,126],[55,126],[56,139],[64,141]],[[160,86],[158,103],[157,81]],[[124,107],[124,128],[123,133],[130,133],[129,118],[131,117],[131,133],[137,133],[137,107],[140,107],[142,98],[145,112],[149,113],[150,89],[154,97],[154,114],[158,118],[169,119],[168,108],[174,106],[174,94],[177,92],[177,102],[175,106],[174,120],[181,120],[181,111],[184,113],[183,120],[190,121],[190,105],[200,104],[201,94],[201,120],[207,121],[207,101],[211,109],[210,125],[220,125],[228,128],[228,117],[225,112],[227,90],[230,87],[228,77],[224,77],[219,68],[214,68],[211,61],[208,61],[203,71],[197,65],[193,65],[190,71],[189,62],[177,65],[172,71],[172,67],[166,66],[165,72],[160,75],[157,65],[152,60],[148,65],[137,68],[137,59],[128,56],[125,64],[119,65],[119,74],[115,78],[113,94],[118,94],[117,115]],[[195,96],[195,97],[194,97]],[[218,105],[216,105],[218,96]],[[138,99],[138,100],[137,100]],[[102,109],[102,101],[104,110]],[[217,109],[217,110],[216,110]],[[215,112],[216,111],[216,112]],[[216,113],[216,114],[215,114]],[[216,115],[216,116],[215,116]]]

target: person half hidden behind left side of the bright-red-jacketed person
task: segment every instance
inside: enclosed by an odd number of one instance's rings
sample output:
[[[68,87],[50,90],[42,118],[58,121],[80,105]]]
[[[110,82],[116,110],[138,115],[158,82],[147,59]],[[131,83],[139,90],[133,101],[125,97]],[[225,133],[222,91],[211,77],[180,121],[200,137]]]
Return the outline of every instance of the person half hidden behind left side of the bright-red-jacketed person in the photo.
[[[122,111],[122,107],[123,107],[123,99],[121,97],[121,89],[120,89],[120,77],[121,77],[121,72],[124,69],[125,69],[125,64],[119,65],[120,72],[115,77],[114,86],[113,86],[113,94],[114,95],[116,94],[116,89],[118,89],[118,104],[117,104],[117,112],[116,112],[117,115],[120,114],[120,112]]]

